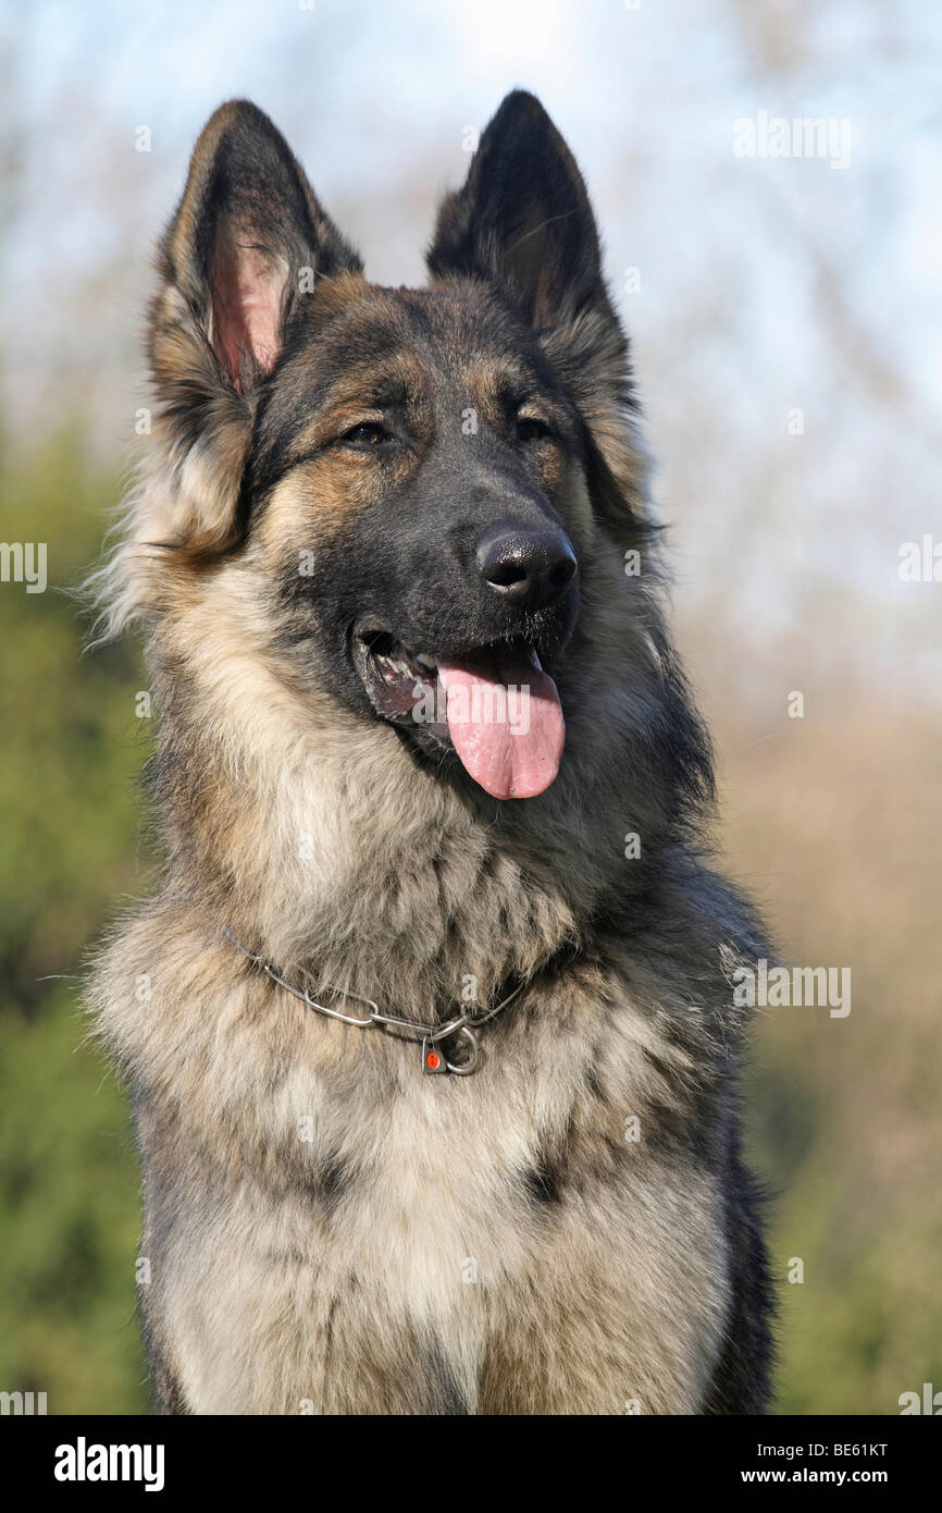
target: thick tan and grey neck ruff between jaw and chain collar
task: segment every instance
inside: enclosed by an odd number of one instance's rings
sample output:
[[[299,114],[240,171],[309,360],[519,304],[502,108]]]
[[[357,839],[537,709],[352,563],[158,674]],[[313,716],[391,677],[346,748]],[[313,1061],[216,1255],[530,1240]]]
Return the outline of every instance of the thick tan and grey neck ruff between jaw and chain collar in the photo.
[[[423,766],[392,726],[299,696],[231,598],[175,617],[153,648],[169,884],[210,923],[315,988],[434,1018],[631,908],[646,862],[626,862],[624,832],[653,856],[674,802],[653,737],[632,729],[658,675],[646,645],[626,640],[623,682],[562,690],[556,782],[502,803]]]

